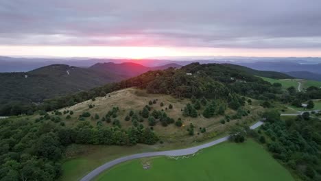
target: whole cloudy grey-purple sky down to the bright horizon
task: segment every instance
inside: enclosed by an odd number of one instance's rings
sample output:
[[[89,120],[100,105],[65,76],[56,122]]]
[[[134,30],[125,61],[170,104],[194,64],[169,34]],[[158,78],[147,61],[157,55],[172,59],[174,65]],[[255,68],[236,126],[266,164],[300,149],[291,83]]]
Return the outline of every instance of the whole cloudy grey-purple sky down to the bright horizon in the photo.
[[[0,55],[321,57],[320,7],[320,0],[0,0]]]

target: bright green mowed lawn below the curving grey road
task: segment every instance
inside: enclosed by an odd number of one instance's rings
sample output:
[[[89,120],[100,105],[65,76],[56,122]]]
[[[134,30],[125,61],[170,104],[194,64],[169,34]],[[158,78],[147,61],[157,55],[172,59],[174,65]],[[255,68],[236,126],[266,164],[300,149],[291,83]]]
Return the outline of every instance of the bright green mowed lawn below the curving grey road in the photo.
[[[143,169],[142,162],[146,160],[124,162],[96,180],[294,180],[262,145],[252,140],[215,145],[188,159],[150,158],[147,162],[152,167],[147,170]]]

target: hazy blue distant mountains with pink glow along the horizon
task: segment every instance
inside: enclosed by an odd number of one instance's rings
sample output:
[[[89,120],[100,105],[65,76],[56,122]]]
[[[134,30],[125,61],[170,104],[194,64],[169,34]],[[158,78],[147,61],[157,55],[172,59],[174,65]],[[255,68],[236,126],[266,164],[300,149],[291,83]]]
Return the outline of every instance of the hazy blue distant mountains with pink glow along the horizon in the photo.
[[[177,58],[176,58],[177,59]],[[195,57],[195,58],[180,58],[180,60],[173,59],[112,59],[112,58],[11,58],[0,57],[0,72],[21,72],[31,71],[40,67],[45,67],[51,64],[68,64],[75,67],[91,67],[95,63],[101,63],[103,66],[97,64],[91,69],[104,71],[104,69],[113,69],[112,64],[123,62],[135,62],[143,67],[136,67],[135,70],[128,72],[128,67],[117,69],[119,74],[129,73],[130,76],[139,75],[148,70],[160,69],[160,66],[165,66],[161,69],[184,66],[192,62],[207,63],[225,63],[238,64],[251,69],[260,71],[278,71],[286,73],[292,77],[307,79],[307,80],[321,80],[321,58],[251,58],[251,57]],[[104,64],[107,63],[107,64]],[[105,68],[103,68],[105,67]],[[151,67],[154,67],[153,69]]]

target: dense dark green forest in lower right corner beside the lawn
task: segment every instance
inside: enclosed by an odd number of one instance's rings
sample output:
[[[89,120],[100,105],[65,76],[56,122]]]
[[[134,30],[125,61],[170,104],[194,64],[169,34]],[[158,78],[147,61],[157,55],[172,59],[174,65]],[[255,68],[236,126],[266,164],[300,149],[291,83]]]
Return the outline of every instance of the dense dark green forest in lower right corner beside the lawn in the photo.
[[[321,122],[305,112],[281,120],[276,111],[265,112],[257,139],[303,180],[321,180]]]

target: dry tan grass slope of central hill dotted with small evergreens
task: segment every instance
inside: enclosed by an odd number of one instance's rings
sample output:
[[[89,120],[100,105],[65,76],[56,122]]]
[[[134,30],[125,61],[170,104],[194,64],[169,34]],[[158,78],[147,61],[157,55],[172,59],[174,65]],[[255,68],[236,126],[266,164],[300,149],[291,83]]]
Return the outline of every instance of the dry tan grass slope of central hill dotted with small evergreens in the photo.
[[[93,125],[96,125],[97,121],[101,120],[102,117],[106,115],[108,110],[111,110],[112,107],[119,107],[119,112],[117,113],[117,118],[121,123],[121,128],[129,128],[132,126],[132,121],[125,121],[125,117],[129,114],[130,110],[133,110],[137,114],[139,111],[143,110],[145,105],[148,105],[150,100],[157,99],[156,104],[149,105],[152,107],[152,110],[163,110],[169,117],[173,118],[175,121],[178,118],[182,119],[182,127],[178,128],[176,125],[171,124],[167,127],[160,125],[160,123],[156,123],[154,126],[154,131],[158,136],[162,137],[164,140],[168,141],[185,141],[186,138],[191,138],[191,136],[187,136],[187,128],[185,125],[189,125],[193,123],[195,128],[206,128],[206,132],[211,132],[211,134],[218,134],[219,132],[224,132],[226,128],[230,125],[233,125],[237,121],[256,121],[256,113],[261,111],[262,108],[257,106],[255,101],[253,106],[246,106],[246,110],[250,110],[252,112],[251,117],[244,117],[241,120],[233,120],[230,123],[226,123],[222,125],[220,120],[224,119],[224,116],[213,117],[211,119],[206,119],[202,117],[202,109],[198,110],[199,116],[196,118],[192,117],[183,117],[182,109],[190,103],[189,99],[176,99],[171,97],[170,95],[156,95],[156,94],[147,94],[145,90],[140,90],[136,88],[126,88],[123,90],[115,91],[110,93],[110,97],[107,95],[105,97],[97,97],[95,101],[88,100],[84,101],[80,104],[76,104],[75,106],[71,106],[69,108],[62,108],[60,112],[64,112],[64,110],[73,111],[73,115],[71,115],[71,119],[65,119],[66,114],[62,115],[62,120],[65,120],[67,126],[74,126],[78,121],[78,117],[83,112],[90,112],[91,116],[95,114],[99,115],[99,119],[94,119],[93,117],[88,117],[86,120],[91,121]],[[160,106],[160,102],[163,102],[164,106]],[[168,106],[171,104],[173,106],[172,109],[169,109]],[[89,108],[88,105],[95,105],[93,108]],[[150,112],[152,112],[152,110]],[[227,109],[226,114],[232,115],[234,114],[234,110]],[[253,116],[252,116],[253,115]],[[143,122],[140,122],[144,125],[144,127],[149,127],[147,119],[143,119]],[[103,121],[103,125],[112,126],[112,123],[106,123]],[[196,134],[198,135],[198,134]],[[209,136],[204,134],[204,136]],[[215,135],[214,135],[215,136]],[[192,136],[193,137],[193,136]],[[201,136],[198,136],[201,137]],[[210,137],[213,137],[210,136]]]

